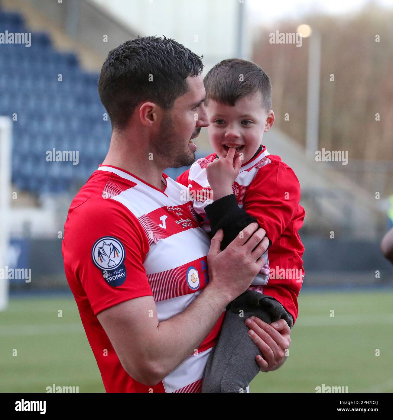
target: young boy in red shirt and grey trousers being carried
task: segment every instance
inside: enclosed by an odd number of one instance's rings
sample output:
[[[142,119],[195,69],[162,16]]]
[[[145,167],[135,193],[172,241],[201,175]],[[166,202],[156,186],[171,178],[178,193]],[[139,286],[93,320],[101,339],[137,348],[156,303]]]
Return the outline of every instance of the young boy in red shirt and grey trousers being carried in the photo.
[[[188,186],[205,231],[224,231],[221,249],[249,223],[266,231],[265,265],[250,288],[227,307],[222,331],[203,376],[202,392],[245,392],[262,356],[244,320],[285,319],[292,328],[303,281],[304,251],[298,235],[304,209],[298,178],[279,156],[262,146],[274,123],[269,77],[254,63],[223,60],[204,79],[208,134],[214,153],[197,160],[177,178]],[[214,200],[214,201],[213,201]]]

